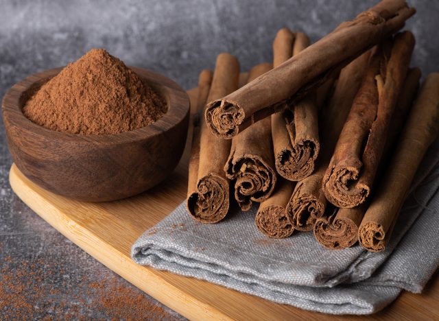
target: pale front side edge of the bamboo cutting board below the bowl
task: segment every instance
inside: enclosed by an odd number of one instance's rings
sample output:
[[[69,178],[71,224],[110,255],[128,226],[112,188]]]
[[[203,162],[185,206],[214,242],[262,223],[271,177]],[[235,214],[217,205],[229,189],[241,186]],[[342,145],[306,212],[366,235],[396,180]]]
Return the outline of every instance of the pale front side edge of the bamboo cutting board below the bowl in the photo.
[[[154,273],[154,269],[134,263],[131,257],[108,246],[102,239],[86,228],[71,222],[56,206],[47,202],[43,195],[38,194],[32,187],[27,185],[23,178],[25,176],[16,165],[12,164],[9,174],[12,191],[32,211],[58,230],[64,237],[67,237],[76,246],[79,246],[94,259],[125,278],[132,285],[190,320],[206,320],[206,318],[233,320],[230,316],[226,316],[211,305],[174,287],[174,285]],[[103,248],[106,248],[106,251],[103,251]],[[119,265],[114,265],[115,257],[119,258]],[[133,271],[134,273],[132,273]]]

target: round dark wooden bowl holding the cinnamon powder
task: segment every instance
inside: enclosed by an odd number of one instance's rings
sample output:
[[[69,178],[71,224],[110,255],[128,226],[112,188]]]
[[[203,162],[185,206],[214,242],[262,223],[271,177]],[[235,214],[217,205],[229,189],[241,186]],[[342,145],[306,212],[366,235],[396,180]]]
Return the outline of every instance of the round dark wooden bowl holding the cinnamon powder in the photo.
[[[189,123],[189,99],[175,82],[130,67],[165,98],[168,111],[155,123],[121,134],[56,132],[23,115],[25,102],[61,68],[31,75],[3,98],[3,122],[16,166],[44,189],[69,198],[104,202],[141,193],[174,170]]]

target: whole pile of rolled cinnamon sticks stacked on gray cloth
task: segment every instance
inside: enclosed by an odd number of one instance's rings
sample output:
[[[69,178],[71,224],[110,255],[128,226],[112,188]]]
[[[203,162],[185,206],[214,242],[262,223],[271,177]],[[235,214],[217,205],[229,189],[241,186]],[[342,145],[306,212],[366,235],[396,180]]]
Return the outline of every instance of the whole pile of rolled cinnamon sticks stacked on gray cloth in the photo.
[[[231,202],[260,203],[268,237],[313,230],[326,248],[383,250],[439,131],[439,74],[417,95],[414,36],[399,32],[414,12],[383,0],[312,45],[283,28],[272,64],[249,73],[220,54],[200,73],[189,213],[216,223]]]

